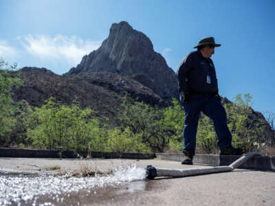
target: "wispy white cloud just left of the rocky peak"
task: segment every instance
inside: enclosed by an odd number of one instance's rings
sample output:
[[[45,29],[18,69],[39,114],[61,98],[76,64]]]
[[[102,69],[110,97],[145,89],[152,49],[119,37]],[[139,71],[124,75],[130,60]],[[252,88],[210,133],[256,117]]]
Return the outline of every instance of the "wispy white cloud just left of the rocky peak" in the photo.
[[[85,54],[98,49],[101,44],[101,41],[84,41],[77,36],[67,37],[61,34],[54,37],[29,34],[17,39],[30,54],[38,56],[41,60],[67,62],[73,65],[78,64]]]

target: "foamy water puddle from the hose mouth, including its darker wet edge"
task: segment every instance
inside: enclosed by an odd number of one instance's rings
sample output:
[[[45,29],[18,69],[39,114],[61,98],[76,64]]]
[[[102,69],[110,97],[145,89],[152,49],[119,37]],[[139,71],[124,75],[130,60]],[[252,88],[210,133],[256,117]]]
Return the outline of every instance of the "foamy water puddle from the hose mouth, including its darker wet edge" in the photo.
[[[88,205],[115,194],[146,190],[144,168],[123,166],[105,176],[75,177],[70,174],[19,174],[0,170],[0,205]]]

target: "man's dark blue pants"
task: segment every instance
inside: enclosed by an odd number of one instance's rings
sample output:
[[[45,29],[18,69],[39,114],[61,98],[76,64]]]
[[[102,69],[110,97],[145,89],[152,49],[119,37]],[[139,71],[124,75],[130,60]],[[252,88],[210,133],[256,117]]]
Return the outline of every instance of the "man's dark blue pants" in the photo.
[[[197,126],[199,114],[202,111],[214,123],[214,130],[218,139],[219,148],[231,146],[232,135],[228,129],[225,109],[221,102],[212,95],[199,95],[196,100],[182,103],[184,107],[184,150],[195,155]]]

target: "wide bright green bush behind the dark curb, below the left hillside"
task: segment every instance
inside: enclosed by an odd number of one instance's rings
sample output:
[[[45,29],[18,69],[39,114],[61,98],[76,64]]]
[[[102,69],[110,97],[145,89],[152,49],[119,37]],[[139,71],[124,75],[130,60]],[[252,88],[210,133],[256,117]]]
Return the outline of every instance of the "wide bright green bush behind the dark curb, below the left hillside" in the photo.
[[[34,146],[75,152],[96,149],[100,128],[90,108],[63,105],[50,98],[40,108],[34,108],[32,122],[34,126],[28,129],[28,137]]]

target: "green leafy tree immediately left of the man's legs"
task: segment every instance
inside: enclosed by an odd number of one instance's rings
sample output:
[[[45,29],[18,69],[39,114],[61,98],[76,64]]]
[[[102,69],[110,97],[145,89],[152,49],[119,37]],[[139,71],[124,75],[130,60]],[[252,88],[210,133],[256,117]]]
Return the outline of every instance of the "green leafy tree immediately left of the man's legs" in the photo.
[[[117,126],[129,128],[140,138],[142,144],[150,146],[153,152],[164,152],[171,138],[173,146],[182,145],[182,141],[179,143],[178,139],[182,133],[184,118],[177,100],[174,102],[174,108],[161,109],[124,98]]]

